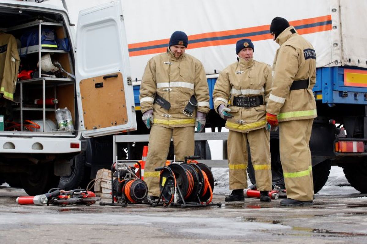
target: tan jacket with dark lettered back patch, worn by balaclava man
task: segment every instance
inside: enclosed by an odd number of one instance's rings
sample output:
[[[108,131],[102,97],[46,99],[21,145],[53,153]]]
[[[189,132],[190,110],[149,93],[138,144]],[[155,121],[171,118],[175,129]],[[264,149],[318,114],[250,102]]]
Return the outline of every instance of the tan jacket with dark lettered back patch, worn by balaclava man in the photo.
[[[293,26],[276,38],[280,48],[273,64],[273,86],[266,111],[279,121],[317,117],[312,88],[316,83],[316,53]],[[290,90],[293,81],[309,79],[307,89]]]

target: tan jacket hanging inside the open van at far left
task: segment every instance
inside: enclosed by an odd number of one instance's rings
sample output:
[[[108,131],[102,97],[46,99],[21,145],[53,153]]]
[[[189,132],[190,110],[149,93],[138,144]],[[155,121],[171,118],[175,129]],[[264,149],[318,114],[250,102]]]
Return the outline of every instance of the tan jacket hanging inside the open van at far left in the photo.
[[[0,93],[11,101],[14,101],[20,62],[15,37],[0,32]]]

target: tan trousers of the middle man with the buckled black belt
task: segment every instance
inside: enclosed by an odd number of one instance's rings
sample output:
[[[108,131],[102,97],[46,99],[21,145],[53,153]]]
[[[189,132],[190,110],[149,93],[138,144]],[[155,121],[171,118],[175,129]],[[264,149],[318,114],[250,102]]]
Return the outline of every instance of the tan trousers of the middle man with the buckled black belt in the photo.
[[[248,133],[229,130],[227,149],[230,190],[247,188],[247,141],[250,145],[257,189],[259,191],[272,190],[269,138],[270,134],[265,128]]]

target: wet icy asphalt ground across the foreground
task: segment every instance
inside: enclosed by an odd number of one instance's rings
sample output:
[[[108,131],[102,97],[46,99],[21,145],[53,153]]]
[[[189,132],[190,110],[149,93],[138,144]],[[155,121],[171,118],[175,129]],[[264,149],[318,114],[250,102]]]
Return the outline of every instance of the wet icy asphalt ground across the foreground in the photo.
[[[356,192],[351,191],[351,192]],[[0,243],[367,243],[367,195],[316,195],[310,207],[246,198],[219,207],[18,205],[0,186]]]

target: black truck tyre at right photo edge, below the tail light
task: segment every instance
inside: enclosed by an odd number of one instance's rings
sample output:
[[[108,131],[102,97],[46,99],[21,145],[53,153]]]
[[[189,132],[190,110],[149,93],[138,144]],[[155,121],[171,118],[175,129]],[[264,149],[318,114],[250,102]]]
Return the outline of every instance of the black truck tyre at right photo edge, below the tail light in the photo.
[[[345,178],[357,191],[367,193],[367,162],[343,164]]]

